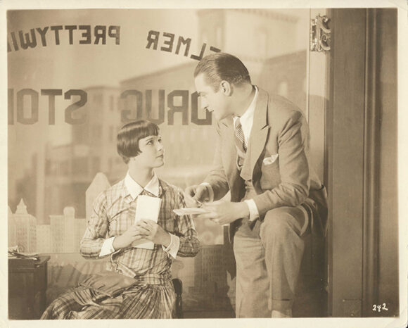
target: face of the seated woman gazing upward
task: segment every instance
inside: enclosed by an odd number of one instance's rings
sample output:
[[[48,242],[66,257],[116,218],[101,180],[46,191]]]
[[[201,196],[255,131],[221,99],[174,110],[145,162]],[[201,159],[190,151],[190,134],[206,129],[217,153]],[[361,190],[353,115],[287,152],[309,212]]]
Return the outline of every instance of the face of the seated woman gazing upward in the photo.
[[[160,168],[164,165],[165,149],[160,135],[139,139],[139,149],[141,153],[134,158],[139,167]]]

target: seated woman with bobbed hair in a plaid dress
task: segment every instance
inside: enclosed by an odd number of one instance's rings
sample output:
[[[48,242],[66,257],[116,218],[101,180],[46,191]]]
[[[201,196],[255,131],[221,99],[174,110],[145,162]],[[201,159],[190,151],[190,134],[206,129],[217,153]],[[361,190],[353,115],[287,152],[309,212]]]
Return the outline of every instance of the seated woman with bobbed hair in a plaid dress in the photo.
[[[56,298],[42,319],[172,316],[175,301],[170,274],[172,258],[196,256],[200,248],[196,230],[191,217],[179,217],[172,211],[185,207],[182,192],[155,175],[154,169],[164,165],[157,125],[144,120],[124,125],[117,134],[117,152],[129,170],[125,179],[94,201],[80,252],[84,258],[110,256],[108,272],[119,277],[119,282],[121,277],[123,281],[131,277],[136,284],[114,297],[89,286],[79,286]],[[136,200],[141,194],[161,198],[158,223],[153,220],[135,223]],[[132,246],[142,239],[153,241],[153,249]]]

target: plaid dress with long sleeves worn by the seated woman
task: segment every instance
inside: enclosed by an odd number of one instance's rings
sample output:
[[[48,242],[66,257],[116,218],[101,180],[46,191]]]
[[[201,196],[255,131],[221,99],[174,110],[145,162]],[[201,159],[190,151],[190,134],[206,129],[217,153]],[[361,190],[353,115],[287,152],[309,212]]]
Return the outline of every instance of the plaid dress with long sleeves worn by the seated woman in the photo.
[[[158,225],[179,236],[177,256],[196,256],[200,244],[193,221],[188,215],[174,214],[174,208],[185,207],[184,196],[177,188],[159,179],[162,199]],[[144,191],[144,194],[153,196]],[[123,234],[134,224],[136,199],[125,187],[125,180],[103,191],[94,201],[94,210],[81,241],[84,258],[100,258],[103,241]],[[79,286],[54,300],[42,319],[136,319],[170,318],[175,301],[171,281],[172,259],[161,245],[153,250],[122,248],[110,255],[107,270],[134,277],[139,284],[115,298]]]

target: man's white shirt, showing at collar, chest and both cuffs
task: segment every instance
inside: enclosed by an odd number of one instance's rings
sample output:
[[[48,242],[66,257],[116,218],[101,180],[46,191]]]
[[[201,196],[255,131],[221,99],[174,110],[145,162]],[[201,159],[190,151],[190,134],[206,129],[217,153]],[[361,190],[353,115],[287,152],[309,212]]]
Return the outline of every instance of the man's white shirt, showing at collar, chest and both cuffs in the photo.
[[[241,118],[239,118],[241,122],[241,126],[242,126],[243,137],[245,139],[245,144],[247,148],[249,144],[250,132],[253,126],[253,115],[255,113],[257,97],[258,97],[258,89],[257,87],[255,87],[255,96],[253,97],[253,101],[251,101],[246,111],[243,113],[243,115],[241,115]],[[235,121],[237,119],[238,119],[238,116],[234,116],[234,126],[235,126]],[[208,187],[208,194],[210,196],[210,201],[213,201],[214,191],[212,190],[212,187],[207,182],[204,182],[203,185]],[[258,217],[260,217],[259,211],[253,199],[247,199],[244,202],[248,205],[248,208],[249,208],[249,220],[250,221],[256,220]]]

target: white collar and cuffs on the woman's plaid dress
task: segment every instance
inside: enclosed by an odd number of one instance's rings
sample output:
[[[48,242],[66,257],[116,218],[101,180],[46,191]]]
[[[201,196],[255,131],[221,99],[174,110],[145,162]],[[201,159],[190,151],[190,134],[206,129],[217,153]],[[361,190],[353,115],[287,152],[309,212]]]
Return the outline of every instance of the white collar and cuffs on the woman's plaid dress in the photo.
[[[134,181],[134,179],[132,179],[132,177],[129,175],[129,172],[127,172],[127,175],[125,177],[125,186],[133,199],[136,199],[136,197],[139,196],[143,190],[150,192],[156,197],[158,197],[159,195],[160,184],[159,179],[155,174],[153,175],[153,178],[148,182],[148,184],[146,184],[146,187],[143,188],[140,184]],[[115,251],[115,248],[113,248],[113,240],[115,238],[116,236],[103,241],[101,253],[99,253],[99,256],[106,256]],[[179,247],[180,239],[174,234],[170,234],[170,245],[167,246],[167,248],[162,245],[163,250],[173,258],[176,258]]]

